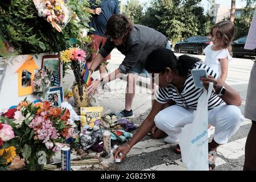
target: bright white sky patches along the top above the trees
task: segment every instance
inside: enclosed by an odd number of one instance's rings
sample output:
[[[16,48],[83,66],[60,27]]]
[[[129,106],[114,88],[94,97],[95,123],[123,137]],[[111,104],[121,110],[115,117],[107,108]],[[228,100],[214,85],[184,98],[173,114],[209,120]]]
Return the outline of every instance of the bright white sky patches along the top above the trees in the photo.
[[[126,3],[127,0],[122,0],[123,3]],[[139,0],[141,3],[150,2],[149,0]],[[221,4],[221,7],[230,8],[231,0],[216,0],[216,4]],[[204,10],[207,11],[209,8],[209,2],[207,0],[202,1],[202,5],[204,6]],[[246,0],[236,0],[236,8],[241,8],[246,5]]]

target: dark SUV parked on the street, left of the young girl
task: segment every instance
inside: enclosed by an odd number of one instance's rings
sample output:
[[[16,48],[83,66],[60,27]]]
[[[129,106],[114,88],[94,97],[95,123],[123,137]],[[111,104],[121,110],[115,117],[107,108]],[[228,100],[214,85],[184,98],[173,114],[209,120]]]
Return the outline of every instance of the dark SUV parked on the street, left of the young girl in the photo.
[[[188,53],[196,52],[198,55],[204,54],[204,48],[210,44],[208,36],[191,36],[190,38],[178,42],[174,46],[174,51],[180,53],[187,51]]]

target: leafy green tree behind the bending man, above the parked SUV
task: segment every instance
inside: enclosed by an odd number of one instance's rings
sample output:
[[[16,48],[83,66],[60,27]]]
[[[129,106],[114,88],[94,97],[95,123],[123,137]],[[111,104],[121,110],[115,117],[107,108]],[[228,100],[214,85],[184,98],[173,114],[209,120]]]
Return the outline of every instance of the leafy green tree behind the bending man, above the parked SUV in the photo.
[[[155,28],[172,43],[189,36],[206,36],[212,18],[204,14],[201,0],[153,0],[142,17],[142,24]]]

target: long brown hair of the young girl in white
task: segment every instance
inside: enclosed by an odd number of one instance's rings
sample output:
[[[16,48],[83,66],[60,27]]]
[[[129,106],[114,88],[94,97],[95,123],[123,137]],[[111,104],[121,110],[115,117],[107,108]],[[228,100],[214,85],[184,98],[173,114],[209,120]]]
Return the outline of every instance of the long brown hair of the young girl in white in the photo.
[[[223,20],[214,24],[212,30],[210,30],[210,35],[213,36],[213,30],[216,28],[216,36],[220,40],[218,42],[218,46],[222,49],[227,48],[232,54],[232,47],[230,46],[233,38],[234,38],[234,31],[235,27],[232,22],[229,20]]]

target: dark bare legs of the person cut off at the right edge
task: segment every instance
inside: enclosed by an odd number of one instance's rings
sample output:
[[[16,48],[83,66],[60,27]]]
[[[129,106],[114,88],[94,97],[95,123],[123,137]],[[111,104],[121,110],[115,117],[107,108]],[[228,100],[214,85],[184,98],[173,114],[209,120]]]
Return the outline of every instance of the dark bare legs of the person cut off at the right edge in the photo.
[[[256,171],[256,121],[252,121],[251,129],[245,143],[244,171]]]

